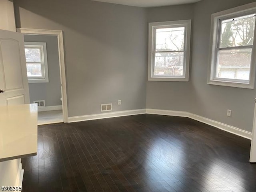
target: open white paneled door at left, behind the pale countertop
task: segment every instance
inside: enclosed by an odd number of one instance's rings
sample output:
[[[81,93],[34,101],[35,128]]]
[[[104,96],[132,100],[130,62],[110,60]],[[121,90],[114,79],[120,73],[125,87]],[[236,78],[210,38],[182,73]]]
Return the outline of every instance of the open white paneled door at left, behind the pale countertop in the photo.
[[[29,102],[23,34],[0,30],[0,106]]]

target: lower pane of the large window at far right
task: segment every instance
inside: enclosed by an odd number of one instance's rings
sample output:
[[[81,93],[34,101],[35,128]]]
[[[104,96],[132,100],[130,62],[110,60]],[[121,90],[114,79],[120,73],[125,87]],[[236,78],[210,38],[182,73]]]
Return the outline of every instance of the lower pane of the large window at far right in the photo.
[[[249,80],[252,49],[220,50],[216,77]]]

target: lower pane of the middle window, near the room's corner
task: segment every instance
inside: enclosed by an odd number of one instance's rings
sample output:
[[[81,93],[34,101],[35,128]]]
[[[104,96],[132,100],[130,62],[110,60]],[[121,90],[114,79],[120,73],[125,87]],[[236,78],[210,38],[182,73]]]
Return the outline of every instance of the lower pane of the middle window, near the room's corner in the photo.
[[[155,54],[154,75],[182,76],[184,52]]]

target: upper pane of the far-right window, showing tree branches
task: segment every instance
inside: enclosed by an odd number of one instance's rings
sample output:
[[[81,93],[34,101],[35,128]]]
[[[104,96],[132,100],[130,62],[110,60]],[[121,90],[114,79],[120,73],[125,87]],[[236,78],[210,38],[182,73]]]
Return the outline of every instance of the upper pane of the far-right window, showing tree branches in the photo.
[[[222,21],[220,47],[253,44],[255,14]]]

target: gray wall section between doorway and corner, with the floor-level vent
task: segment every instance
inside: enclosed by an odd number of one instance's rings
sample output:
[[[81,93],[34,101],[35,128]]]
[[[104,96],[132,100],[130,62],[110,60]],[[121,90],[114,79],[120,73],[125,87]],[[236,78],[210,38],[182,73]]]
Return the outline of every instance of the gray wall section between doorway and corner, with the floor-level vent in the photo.
[[[89,0],[15,0],[16,25],[63,30],[68,116],[146,108],[146,10]],[[122,105],[118,106],[118,100]]]

